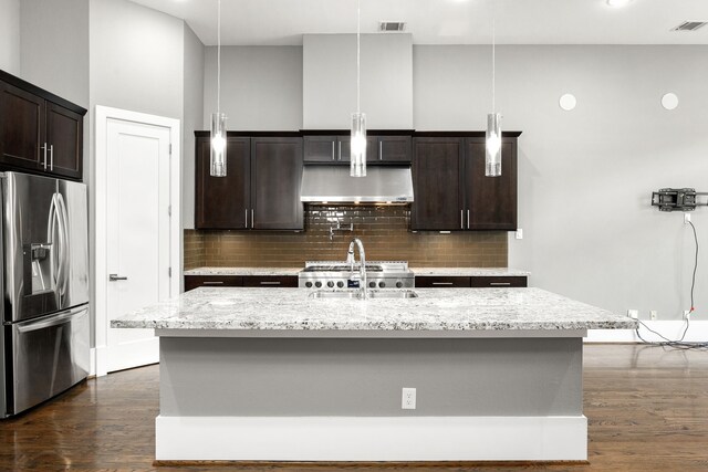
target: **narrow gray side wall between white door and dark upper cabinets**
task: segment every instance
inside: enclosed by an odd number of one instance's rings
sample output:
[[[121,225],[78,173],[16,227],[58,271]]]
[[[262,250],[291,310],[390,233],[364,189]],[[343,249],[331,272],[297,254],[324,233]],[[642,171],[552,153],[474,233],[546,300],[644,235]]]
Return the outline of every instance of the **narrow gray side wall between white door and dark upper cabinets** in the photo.
[[[185,111],[183,120],[183,228],[195,227],[195,129],[202,128],[205,46],[185,23]]]

